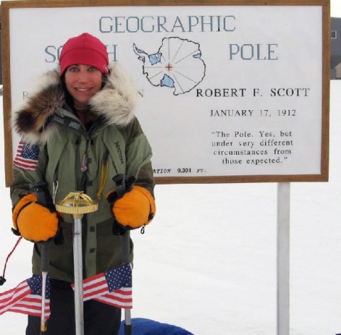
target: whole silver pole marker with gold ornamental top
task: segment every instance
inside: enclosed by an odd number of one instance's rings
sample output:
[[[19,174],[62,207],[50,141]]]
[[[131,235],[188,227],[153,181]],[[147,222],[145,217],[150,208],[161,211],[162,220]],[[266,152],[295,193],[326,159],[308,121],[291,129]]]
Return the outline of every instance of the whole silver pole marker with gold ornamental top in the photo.
[[[55,205],[58,212],[72,214],[73,217],[73,263],[75,277],[75,326],[76,335],[84,334],[83,310],[83,260],[82,260],[82,217],[97,211],[98,204],[83,192],[70,192],[65,199]]]

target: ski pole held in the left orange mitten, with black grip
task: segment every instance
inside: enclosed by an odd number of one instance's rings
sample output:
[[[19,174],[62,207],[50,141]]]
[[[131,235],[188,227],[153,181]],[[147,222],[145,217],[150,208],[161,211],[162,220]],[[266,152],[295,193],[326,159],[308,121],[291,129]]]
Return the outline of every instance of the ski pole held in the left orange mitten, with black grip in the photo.
[[[48,192],[46,187],[46,182],[38,182],[33,185],[32,189],[36,192],[37,202],[44,207],[47,207],[51,211],[55,211],[55,206],[53,204],[53,199]],[[47,318],[45,316],[45,307],[46,307],[46,280],[48,278],[48,268],[49,268],[49,255],[48,255],[48,242],[42,241],[41,245],[41,317],[40,317],[40,334],[45,333],[48,330],[47,327]]]

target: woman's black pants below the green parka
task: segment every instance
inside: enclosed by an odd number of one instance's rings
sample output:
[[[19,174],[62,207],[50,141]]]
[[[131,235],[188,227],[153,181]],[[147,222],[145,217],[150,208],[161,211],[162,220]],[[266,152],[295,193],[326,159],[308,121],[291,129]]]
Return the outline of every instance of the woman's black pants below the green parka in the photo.
[[[50,280],[50,319],[47,335],[75,335],[75,302],[70,284]],[[85,335],[117,335],[121,309],[95,300],[84,303]],[[26,335],[40,335],[40,317],[28,317]]]

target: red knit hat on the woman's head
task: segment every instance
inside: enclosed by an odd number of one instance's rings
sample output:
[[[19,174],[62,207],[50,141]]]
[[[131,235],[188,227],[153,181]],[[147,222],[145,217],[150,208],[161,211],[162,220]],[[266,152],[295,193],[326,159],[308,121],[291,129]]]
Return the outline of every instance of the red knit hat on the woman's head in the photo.
[[[88,33],[82,33],[66,41],[60,53],[59,63],[60,75],[63,75],[67,67],[75,64],[91,65],[102,73],[109,73],[107,48],[98,38]]]

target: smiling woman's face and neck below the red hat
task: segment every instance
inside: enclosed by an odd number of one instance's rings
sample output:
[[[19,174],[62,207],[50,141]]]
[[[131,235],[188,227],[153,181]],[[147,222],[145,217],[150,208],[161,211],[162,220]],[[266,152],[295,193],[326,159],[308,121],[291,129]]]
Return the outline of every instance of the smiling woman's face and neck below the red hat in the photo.
[[[102,88],[102,81],[102,72],[90,65],[71,65],[65,71],[67,91],[78,109],[87,106],[87,101]]]

